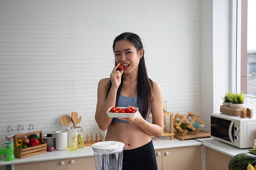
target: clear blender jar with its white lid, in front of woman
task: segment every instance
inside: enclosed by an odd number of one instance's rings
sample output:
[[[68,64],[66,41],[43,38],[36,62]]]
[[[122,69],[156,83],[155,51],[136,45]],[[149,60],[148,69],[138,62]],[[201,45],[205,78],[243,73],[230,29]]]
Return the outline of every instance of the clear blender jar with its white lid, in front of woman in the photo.
[[[124,143],[102,141],[92,145],[96,170],[121,170]]]

